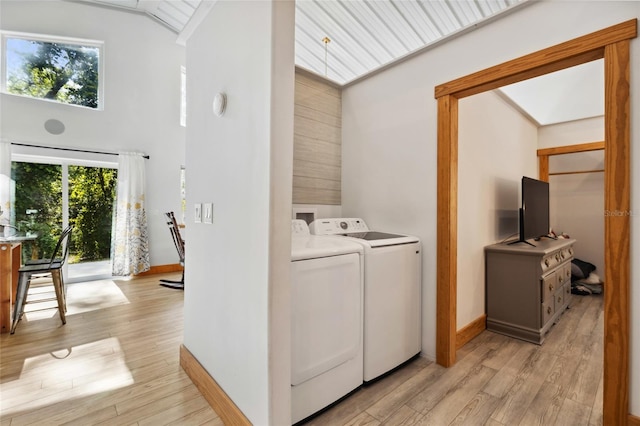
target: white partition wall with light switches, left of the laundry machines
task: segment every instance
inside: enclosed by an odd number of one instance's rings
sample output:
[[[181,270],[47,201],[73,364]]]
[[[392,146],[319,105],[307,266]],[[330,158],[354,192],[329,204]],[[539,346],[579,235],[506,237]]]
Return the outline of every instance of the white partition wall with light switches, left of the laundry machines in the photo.
[[[186,47],[184,344],[256,425],[291,419],[293,6],[218,2]]]

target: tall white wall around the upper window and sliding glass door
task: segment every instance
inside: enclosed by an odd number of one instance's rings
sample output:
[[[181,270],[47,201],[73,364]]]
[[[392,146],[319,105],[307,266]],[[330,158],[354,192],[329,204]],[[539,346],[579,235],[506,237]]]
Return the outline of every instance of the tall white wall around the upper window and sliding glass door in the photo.
[[[47,146],[143,151],[151,264],[177,263],[163,213],[180,209],[180,66],[176,35],[133,13],[67,1],[1,2],[2,30],[104,41],[104,111],[2,94],[3,139]],[[65,124],[59,136],[44,122]],[[59,152],[58,152],[59,154]],[[113,157],[116,159],[116,157]],[[117,161],[117,160],[116,160]]]

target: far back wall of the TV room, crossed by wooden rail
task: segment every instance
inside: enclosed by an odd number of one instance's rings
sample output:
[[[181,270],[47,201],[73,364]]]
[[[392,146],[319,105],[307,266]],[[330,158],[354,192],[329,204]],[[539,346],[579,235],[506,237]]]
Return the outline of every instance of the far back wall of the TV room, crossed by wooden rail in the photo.
[[[604,117],[544,126],[540,147],[575,145],[604,140]],[[550,172],[602,170],[604,151],[549,158]],[[551,226],[575,238],[575,257],[593,263],[604,278],[604,173],[556,175],[549,178]]]

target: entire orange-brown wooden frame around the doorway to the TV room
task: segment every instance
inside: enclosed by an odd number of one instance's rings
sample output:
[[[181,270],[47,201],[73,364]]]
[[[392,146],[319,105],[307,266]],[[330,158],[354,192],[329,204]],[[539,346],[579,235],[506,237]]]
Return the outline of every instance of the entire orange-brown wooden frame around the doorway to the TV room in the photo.
[[[637,20],[522,56],[435,88],[438,101],[436,361],[456,361],[458,251],[458,100],[598,59],[605,68],[605,425],[629,415],[630,40]]]

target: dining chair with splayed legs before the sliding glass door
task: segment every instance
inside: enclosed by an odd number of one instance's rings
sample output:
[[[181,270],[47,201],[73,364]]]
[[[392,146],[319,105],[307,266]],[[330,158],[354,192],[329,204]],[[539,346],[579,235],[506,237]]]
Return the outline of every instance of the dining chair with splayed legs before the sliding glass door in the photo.
[[[46,261],[34,261],[31,264],[26,264],[18,270],[18,288],[16,290],[16,300],[13,305],[13,319],[11,321],[11,334],[15,333],[18,322],[24,315],[24,308],[27,302],[27,294],[31,285],[31,280],[34,278],[51,277],[53,281],[53,288],[55,290],[55,299],[38,299],[37,302],[45,302],[50,300],[56,300],[58,302],[58,312],[62,324],[67,323],[66,311],[67,300],[64,279],[62,276],[62,266],[65,264],[67,257],[69,256],[69,239],[71,237],[71,226],[65,228],[58,238],[56,247],[51,254],[51,259]],[[33,302],[36,303],[36,302]]]

